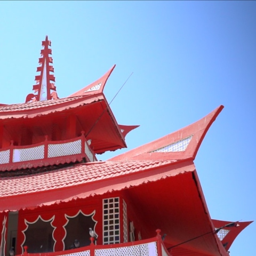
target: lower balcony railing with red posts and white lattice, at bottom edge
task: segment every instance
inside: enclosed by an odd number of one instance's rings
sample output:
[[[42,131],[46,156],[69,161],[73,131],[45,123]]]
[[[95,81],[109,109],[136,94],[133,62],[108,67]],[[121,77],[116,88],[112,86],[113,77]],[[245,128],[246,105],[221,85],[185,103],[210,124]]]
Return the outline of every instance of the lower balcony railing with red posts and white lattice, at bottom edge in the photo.
[[[27,246],[24,249],[25,252],[17,256],[171,256],[164,246],[159,229],[154,238],[123,244],[95,245],[91,238],[89,246],[61,252],[28,253]]]

